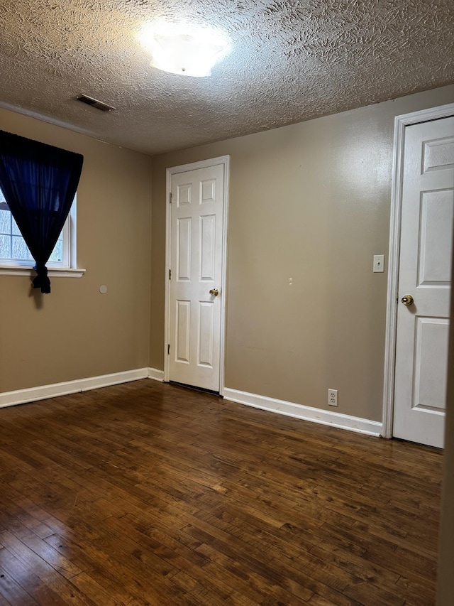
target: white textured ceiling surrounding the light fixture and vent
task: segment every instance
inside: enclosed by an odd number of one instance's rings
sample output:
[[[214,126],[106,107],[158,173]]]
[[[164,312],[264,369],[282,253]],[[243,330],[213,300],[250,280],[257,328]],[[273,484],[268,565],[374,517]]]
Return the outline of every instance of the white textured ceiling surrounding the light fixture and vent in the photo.
[[[221,28],[231,54],[155,70],[153,18]],[[0,0],[0,105],[160,153],[450,84],[453,28],[453,0]]]

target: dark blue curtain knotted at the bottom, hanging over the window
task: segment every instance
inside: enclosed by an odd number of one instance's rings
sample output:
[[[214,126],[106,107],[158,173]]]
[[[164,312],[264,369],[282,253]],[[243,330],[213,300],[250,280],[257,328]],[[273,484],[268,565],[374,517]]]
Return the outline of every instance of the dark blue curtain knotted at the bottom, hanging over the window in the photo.
[[[0,188],[35,259],[33,288],[50,293],[45,264],[74,200],[83,156],[0,131]]]

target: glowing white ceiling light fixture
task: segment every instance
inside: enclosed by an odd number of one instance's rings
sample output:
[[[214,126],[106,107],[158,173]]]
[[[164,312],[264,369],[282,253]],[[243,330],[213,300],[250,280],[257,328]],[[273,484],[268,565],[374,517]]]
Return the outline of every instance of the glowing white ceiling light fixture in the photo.
[[[183,23],[145,23],[140,42],[158,70],[185,76],[211,75],[211,67],[228,53],[229,40],[212,28]]]

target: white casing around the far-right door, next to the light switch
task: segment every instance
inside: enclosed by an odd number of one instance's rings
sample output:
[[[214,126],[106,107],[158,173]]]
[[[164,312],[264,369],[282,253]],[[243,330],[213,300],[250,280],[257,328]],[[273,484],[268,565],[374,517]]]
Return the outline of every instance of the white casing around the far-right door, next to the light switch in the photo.
[[[394,118],[392,159],[391,218],[389,221],[388,286],[386,336],[384,344],[384,385],[382,437],[392,438],[394,421],[394,381],[396,364],[397,304],[399,286],[399,254],[402,218],[402,180],[404,176],[405,128],[454,115],[454,103],[448,103]]]

